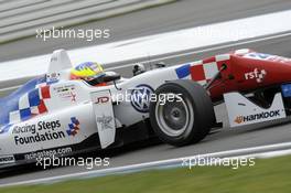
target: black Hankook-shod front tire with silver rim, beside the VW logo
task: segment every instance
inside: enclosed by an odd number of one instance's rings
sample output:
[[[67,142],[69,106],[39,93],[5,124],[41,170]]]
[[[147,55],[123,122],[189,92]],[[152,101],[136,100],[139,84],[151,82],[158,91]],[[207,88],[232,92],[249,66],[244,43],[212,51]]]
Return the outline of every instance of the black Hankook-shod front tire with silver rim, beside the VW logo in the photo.
[[[190,79],[168,82],[155,95],[159,100],[150,104],[150,120],[162,141],[180,147],[198,142],[208,135],[215,114],[207,92],[200,84]]]

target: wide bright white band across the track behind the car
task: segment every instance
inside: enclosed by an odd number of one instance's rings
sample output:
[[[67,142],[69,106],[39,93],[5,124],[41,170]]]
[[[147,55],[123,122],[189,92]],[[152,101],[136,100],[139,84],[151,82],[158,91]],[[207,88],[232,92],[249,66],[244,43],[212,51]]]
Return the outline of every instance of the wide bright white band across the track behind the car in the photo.
[[[157,35],[143,36],[68,52],[74,64],[97,61],[109,64],[120,61],[158,56],[186,50],[215,46],[291,31],[291,10],[230,20]],[[45,43],[40,40],[40,43]],[[60,47],[61,49],[61,47]],[[51,54],[0,63],[0,81],[46,72]]]

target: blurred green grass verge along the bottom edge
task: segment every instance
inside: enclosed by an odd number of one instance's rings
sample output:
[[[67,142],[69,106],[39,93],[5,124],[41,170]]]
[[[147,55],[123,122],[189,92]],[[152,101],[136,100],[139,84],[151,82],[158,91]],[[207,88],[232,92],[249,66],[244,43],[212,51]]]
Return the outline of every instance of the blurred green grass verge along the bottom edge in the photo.
[[[227,167],[169,169],[0,189],[1,193],[290,193],[291,157],[256,160],[237,170]]]

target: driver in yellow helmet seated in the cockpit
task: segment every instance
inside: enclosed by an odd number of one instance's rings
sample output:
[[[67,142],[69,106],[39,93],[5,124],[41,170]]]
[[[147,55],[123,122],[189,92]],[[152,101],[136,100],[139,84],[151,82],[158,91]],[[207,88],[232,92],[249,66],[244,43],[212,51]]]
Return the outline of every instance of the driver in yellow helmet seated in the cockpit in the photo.
[[[105,76],[103,66],[95,62],[82,63],[71,71],[71,79],[83,79],[91,86],[106,86]]]

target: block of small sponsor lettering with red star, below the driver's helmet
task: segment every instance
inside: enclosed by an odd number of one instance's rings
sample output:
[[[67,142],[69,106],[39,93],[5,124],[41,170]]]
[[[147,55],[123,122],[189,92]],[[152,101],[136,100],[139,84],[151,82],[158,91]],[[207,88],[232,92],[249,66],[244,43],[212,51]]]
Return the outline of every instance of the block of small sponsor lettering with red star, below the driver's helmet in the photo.
[[[75,85],[63,85],[55,87],[54,90],[57,93],[58,97],[64,100],[71,100],[72,103],[76,101],[76,87]]]

